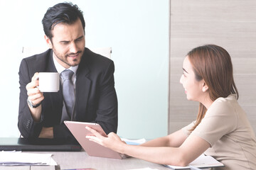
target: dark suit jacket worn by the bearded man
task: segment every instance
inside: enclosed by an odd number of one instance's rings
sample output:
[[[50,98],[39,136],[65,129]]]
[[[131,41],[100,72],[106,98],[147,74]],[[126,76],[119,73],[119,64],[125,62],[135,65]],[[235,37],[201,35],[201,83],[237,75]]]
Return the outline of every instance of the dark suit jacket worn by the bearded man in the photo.
[[[27,104],[26,85],[36,72],[57,72],[53,51],[24,58],[19,69],[20,98],[18,129],[23,137],[38,137],[42,127],[53,127],[55,138],[73,138],[64,124],[60,125],[63,108],[62,87],[56,93],[43,93],[40,123],[35,123]],[[114,63],[85,47],[76,73],[76,118],[99,123],[103,130],[117,132],[117,94],[114,89]]]

